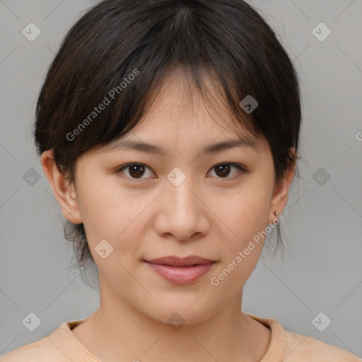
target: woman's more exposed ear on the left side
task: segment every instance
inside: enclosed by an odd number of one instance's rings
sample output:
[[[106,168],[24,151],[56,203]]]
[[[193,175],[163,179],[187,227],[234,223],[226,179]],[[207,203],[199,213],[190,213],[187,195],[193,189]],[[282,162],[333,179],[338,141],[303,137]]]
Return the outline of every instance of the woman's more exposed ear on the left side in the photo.
[[[42,169],[52,187],[53,193],[59,206],[62,209],[64,218],[71,223],[83,223],[79,211],[78,200],[76,199],[76,189],[74,184],[69,184],[66,175],[63,175],[54,161],[53,150],[48,150],[40,156]],[[69,213],[71,211],[71,213]]]

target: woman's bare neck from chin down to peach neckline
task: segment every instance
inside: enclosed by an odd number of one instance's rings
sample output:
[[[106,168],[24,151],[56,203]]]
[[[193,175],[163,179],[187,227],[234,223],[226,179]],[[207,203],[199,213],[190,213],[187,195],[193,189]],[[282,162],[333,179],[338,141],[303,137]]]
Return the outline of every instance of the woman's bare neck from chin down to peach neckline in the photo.
[[[242,291],[205,320],[178,326],[145,315],[119,296],[100,295],[100,308],[74,334],[104,362],[254,362],[261,361],[269,345],[260,346],[260,327],[264,333],[267,327],[241,312]]]

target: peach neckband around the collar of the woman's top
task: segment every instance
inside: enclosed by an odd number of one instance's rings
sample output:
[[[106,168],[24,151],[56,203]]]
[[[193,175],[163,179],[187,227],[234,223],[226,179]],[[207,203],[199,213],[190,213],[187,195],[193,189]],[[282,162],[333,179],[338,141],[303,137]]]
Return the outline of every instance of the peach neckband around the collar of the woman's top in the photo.
[[[284,350],[284,328],[281,326],[281,324],[277,320],[271,318],[262,318],[257,315],[251,315],[249,313],[245,314],[249,315],[254,320],[261,322],[263,325],[271,329],[271,339],[269,347],[267,349],[267,352],[264,354],[262,361],[260,362],[281,361]],[[91,351],[86,349],[86,346],[84,346],[81,341],[76,337],[76,335],[71,332],[71,329],[80,325],[84,320],[86,320],[86,318],[63,322],[62,325],[59,326],[57,331],[54,331],[54,333],[59,332],[62,342],[64,343],[64,349],[69,351],[71,355],[82,356],[81,361],[84,362],[102,362],[100,359],[93,356]]]

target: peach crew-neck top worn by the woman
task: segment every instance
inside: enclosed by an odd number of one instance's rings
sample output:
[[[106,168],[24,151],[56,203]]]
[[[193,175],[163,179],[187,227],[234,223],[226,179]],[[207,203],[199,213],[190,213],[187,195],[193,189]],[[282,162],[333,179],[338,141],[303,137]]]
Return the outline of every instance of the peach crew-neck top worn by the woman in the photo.
[[[344,349],[318,339],[288,332],[277,320],[250,315],[271,329],[267,353],[260,362],[361,362]],[[0,357],[0,362],[101,362],[76,338],[71,329],[83,320],[63,322],[48,337],[15,349]],[[135,356],[135,359],[137,356]],[[142,359],[142,358],[141,358]]]

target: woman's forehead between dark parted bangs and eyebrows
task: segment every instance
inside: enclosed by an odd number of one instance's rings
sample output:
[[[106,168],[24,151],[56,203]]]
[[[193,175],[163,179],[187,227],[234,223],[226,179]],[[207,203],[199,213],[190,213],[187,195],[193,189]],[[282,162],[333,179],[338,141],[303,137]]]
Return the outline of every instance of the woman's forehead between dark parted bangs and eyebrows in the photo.
[[[128,134],[107,145],[105,151],[133,148],[165,154],[165,149],[157,145],[173,146],[182,142],[188,146],[210,144],[205,151],[212,153],[227,148],[226,141],[260,151],[263,140],[235,122],[221,92],[207,79],[206,86],[209,98],[205,102],[185,74],[168,76],[140,122]]]

